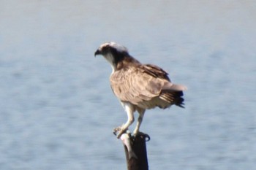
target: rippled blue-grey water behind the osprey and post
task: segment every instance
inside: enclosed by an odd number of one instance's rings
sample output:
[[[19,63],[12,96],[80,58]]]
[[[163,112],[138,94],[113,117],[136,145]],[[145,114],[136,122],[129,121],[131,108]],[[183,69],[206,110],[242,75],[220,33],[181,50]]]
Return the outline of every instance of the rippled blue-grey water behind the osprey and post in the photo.
[[[189,88],[186,109],[146,112],[150,169],[255,169],[255,16],[254,1],[0,1],[0,169],[126,169],[127,116],[94,58],[108,41]]]

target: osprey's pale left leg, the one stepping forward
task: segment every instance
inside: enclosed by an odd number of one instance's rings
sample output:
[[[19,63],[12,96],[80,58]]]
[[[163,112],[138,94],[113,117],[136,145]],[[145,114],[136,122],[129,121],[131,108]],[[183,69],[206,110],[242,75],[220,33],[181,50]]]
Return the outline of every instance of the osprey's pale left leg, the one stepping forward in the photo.
[[[117,135],[118,139],[120,138],[120,136],[122,134],[124,134],[127,131],[129,125],[131,125],[135,120],[134,115],[133,115],[134,108],[133,108],[132,104],[124,104],[123,106],[124,106],[125,111],[127,112],[128,120],[127,120],[127,123],[124,123],[124,125],[121,126],[121,129]]]

